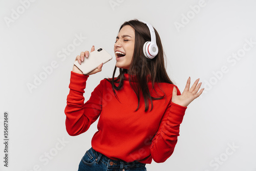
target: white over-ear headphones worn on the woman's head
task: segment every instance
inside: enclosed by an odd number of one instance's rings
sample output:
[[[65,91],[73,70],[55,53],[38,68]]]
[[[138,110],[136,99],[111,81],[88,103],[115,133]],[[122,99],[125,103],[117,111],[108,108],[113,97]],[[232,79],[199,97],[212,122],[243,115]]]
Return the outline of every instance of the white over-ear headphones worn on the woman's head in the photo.
[[[154,31],[153,26],[150,24],[139,20],[142,23],[145,23],[150,29],[150,36],[151,36],[151,41],[146,41],[145,44],[143,45],[143,53],[146,58],[153,59],[157,54],[158,54],[158,47],[157,47],[157,42],[156,42],[156,34]]]

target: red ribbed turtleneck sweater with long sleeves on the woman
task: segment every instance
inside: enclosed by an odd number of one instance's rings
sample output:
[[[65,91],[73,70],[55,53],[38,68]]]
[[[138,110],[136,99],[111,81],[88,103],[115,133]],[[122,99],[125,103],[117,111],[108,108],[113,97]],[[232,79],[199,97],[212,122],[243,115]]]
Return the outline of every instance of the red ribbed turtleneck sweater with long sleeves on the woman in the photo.
[[[66,129],[69,135],[76,136],[86,132],[97,120],[98,131],[92,138],[95,151],[113,160],[151,163],[152,159],[164,162],[174,152],[179,136],[179,127],[187,107],[172,102],[174,84],[161,83],[166,94],[161,100],[153,100],[153,110],[149,101],[145,112],[141,93],[139,110],[135,92],[130,86],[129,75],[124,74],[123,89],[116,91],[116,99],[111,83],[103,79],[94,89],[90,99],[84,103],[84,89],[88,75],[71,71],[70,92],[67,97]],[[135,81],[136,82],[136,81]],[[118,86],[118,84],[116,84]],[[180,95],[180,91],[175,86]],[[152,83],[148,83],[152,90]],[[155,83],[155,89],[157,84]],[[164,95],[157,91],[159,95]],[[151,91],[153,97],[159,97]]]

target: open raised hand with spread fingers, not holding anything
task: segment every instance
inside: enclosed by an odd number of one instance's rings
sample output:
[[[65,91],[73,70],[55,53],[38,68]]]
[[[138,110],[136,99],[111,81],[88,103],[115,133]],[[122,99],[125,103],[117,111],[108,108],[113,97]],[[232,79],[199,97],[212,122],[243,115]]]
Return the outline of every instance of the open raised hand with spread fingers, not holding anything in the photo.
[[[195,81],[195,83],[189,90],[189,87],[190,87],[190,77],[189,77],[187,79],[186,87],[185,87],[183,93],[179,96],[177,95],[177,90],[174,87],[172,102],[186,107],[194,99],[198,98],[203,93],[203,90],[204,90],[204,88],[203,88],[198,92],[198,90],[202,84],[202,82],[200,82],[198,84],[198,81],[199,81],[199,78]]]

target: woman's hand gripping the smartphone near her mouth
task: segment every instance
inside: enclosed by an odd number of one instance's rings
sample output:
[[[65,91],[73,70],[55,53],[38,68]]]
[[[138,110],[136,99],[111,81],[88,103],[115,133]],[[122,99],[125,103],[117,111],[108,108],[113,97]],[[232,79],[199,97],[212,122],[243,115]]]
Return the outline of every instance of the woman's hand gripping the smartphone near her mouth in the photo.
[[[91,49],[91,52],[93,52],[95,50],[94,46]],[[81,64],[81,62],[84,60],[84,56],[88,57],[89,56],[89,51],[85,51],[85,52],[81,52],[80,56],[77,55],[76,56],[76,60],[78,60],[78,62]],[[95,74],[97,72],[101,71],[101,68],[103,66],[103,63],[101,63],[98,68],[96,68],[95,70],[93,70],[92,72],[86,74],[86,75],[92,75]],[[78,73],[78,74],[83,74],[81,70],[79,70],[75,65],[73,66],[73,72]]]

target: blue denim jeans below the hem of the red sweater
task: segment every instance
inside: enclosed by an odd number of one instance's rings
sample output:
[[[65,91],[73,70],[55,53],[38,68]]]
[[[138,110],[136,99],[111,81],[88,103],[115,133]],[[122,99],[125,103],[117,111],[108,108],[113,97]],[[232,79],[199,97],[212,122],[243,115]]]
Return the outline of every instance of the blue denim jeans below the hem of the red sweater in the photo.
[[[96,152],[92,147],[82,157],[78,171],[146,171],[146,164],[138,161],[125,162],[122,160],[112,160],[99,152]]]

